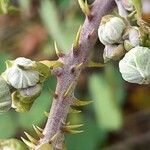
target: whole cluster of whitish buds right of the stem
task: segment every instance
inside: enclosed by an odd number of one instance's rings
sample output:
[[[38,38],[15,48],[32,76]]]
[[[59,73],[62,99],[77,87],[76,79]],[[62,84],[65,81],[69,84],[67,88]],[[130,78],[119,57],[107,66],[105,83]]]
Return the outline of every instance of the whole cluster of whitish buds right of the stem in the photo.
[[[121,3],[128,12],[138,8],[130,0]],[[150,25],[137,16],[137,10],[128,17],[104,16],[98,36],[105,45],[104,62],[122,59],[119,69],[124,80],[150,84]]]

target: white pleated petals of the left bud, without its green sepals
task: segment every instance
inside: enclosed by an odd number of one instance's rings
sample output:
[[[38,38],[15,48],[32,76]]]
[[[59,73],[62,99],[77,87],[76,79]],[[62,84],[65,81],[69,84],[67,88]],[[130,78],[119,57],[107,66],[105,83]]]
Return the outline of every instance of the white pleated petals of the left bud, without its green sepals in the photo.
[[[30,59],[17,58],[13,65],[6,70],[5,78],[16,89],[34,86],[39,82],[39,73],[32,70],[34,65],[35,62]]]

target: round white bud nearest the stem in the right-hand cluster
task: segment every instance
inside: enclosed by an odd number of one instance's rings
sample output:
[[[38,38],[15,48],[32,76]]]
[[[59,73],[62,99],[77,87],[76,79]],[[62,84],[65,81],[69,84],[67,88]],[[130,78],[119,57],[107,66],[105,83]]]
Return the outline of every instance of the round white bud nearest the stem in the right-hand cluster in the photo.
[[[104,45],[119,43],[126,25],[119,17],[112,17],[105,24],[99,26],[98,36]]]

